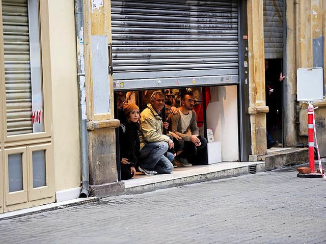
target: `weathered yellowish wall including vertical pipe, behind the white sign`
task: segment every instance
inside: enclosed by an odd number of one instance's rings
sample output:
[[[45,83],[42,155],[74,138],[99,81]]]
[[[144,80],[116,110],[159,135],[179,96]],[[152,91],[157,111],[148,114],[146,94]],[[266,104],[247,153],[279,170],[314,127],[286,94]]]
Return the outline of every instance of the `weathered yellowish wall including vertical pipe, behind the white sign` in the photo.
[[[307,104],[296,102],[296,69],[323,67],[325,60],[325,16],[323,0],[287,0],[286,11],[286,79],[285,79],[285,145],[307,144]],[[325,70],[324,70],[325,71]],[[326,102],[318,102],[317,137],[322,156],[326,155]],[[296,116],[298,124],[295,125]]]

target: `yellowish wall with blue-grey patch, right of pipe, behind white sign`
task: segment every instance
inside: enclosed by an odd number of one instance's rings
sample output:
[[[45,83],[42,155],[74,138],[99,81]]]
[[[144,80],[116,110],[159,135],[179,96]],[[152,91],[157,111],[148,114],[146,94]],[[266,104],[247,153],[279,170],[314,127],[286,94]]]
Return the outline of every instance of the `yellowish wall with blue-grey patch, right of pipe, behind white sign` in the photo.
[[[297,49],[297,68],[302,67],[322,67],[325,62],[325,18],[326,3],[323,0],[300,1],[299,4],[299,26]],[[324,70],[325,72],[325,70]],[[325,73],[324,73],[325,74]],[[326,156],[326,101],[316,102],[314,104],[319,109],[316,110],[317,139],[321,156]],[[298,125],[298,143],[307,143],[308,136],[308,118],[307,104],[301,102],[298,104],[298,116],[300,124]]]

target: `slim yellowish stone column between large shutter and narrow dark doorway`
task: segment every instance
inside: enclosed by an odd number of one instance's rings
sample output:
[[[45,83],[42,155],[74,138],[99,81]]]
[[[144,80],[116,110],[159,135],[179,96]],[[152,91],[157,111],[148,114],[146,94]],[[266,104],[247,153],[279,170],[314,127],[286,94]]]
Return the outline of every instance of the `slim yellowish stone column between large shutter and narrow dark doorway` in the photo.
[[[251,122],[252,154],[267,152],[265,102],[265,63],[263,0],[248,0],[248,48],[249,48],[249,114]]]

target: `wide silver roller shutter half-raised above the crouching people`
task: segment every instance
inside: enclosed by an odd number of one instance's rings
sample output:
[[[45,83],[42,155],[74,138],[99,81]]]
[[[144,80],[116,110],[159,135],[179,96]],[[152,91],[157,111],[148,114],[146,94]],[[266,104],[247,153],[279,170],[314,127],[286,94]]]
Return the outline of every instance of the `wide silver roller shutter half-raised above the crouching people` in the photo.
[[[236,0],[111,6],[116,89],[238,82]]]

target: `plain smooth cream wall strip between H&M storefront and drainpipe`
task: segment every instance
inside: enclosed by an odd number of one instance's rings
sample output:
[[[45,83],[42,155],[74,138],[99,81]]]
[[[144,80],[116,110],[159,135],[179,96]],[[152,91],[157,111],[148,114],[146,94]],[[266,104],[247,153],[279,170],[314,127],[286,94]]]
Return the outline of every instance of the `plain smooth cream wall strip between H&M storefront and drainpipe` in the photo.
[[[73,1],[49,1],[56,191],[80,186]]]

